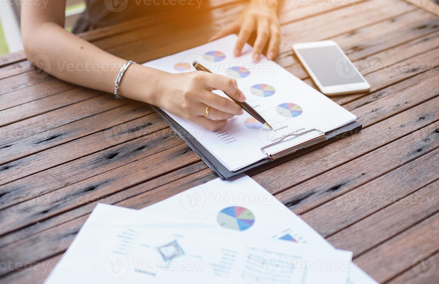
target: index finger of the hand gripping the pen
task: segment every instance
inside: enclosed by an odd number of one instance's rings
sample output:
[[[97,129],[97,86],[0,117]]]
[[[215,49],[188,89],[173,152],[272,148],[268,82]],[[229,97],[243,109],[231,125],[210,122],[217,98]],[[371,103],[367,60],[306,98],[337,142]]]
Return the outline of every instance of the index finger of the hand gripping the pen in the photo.
[[[242,93],[241,90],[238,89],[238,84],[235,79],[207,72],[204,72],[204,74],[202,74],[201,76],[203,77],[203,81],[205,84],[204,86],[206,87],[206,89],[223,90],[230,97],[234,98],[237,101],[244,102],[246,100],[244,93]]]

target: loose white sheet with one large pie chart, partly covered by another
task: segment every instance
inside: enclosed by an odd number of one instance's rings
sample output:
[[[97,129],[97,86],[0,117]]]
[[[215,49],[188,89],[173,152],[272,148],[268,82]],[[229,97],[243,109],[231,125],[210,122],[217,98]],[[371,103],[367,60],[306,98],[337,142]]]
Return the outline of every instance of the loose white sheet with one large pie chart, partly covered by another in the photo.
[[[234,230],[222,225],[219,212],[230,206],[242,207],[254,214],[254,223],[245,230]],[[172,210],[170,210],[172,209]],[[297,242],[311,245],[310,251],[333,250],[334,247],[320,236],[311,226],[288,209],[265,188],[249,176],[243,175],[234,180],[211,180],[176,194],[163,201],[140,209],[148,213],[162,213],[169,217],[178,216],[199,224],[224,228],[236,238],[248,239],[258,236],[281,242]],[[351,284],[377,283],[366,273],[351,263]]]

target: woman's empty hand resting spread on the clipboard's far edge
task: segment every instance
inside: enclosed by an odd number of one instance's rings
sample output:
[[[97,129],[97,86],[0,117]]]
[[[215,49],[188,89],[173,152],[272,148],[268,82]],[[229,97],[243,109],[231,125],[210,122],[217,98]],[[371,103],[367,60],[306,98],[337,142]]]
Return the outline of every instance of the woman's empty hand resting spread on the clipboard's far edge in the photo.
[[[256,30],[257,36],[252,54],[253,61],[259,61],[262,50],[267,42],[267,58],[273,60],[276,58],[279,52],[279,45],[281,44],[281,29],[277,18],[278,2],[277,0],[272,0],[270,3],[259,1],[261,5],[270,6],[261,7],[258,0],[252,0],[245,11],[233,23],[219,31],[209,40],[217,40],[223,36],[239,32],[234,55],[240,56],[244,44],[252,32]]]

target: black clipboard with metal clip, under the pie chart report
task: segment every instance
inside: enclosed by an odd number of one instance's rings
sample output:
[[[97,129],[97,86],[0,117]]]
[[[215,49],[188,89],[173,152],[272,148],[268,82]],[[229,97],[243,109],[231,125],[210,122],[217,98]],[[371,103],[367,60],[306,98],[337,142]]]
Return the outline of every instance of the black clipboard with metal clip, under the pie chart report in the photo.
[[[245,168],[239,169],[235,172],[231,172],[221,162],[219,162],[219,160],[215,156],[213,156],[197,139],[195,139],[191,135],[191,133],[189,133],[186,129],[183,128],[183,126],[181,126],[175,120],[173,120],[165,111],[163,111],[161,108],[155,107],[153,105],[151,105],[151,108],[155,112],[157,112],[157,114],[160,115],[160,117],[163,120],[165,120],[166,123],[168,123],[172,129],[174,129],[174,131],[181,137],[181,139],[183,139],[184,142],[186,142],[189,145],[189,147],[191,147],[191,149],[194,150],[194,152],[197,153],[198,156],[200,156],[200,158],[203,160],[203,162],[205,162],[206,165],[208,165],[209,168],[212,169],[212,171],[214,173],[216,173],[221,178],[221,180],[228,180],[228,179],[230,179],[234,176],[240,175],[241,173],[244,173],[250,169],[254,169],[260,165],[273,162],[273,160],[277,160],[278,158],[283,158],[283,157],[294,158],[294,157],[298,156],[298,154],[300,154],[300,152],[303,151],[303,149],[305,149],[305,148],[311,147],[313,145],[318,145],[321,143],[328,143],[328,141],[336,140],[336,139],[342,138],[342,137],[347,136],[347,135],[352,135],[352,134],[360,131],[360,129],[362,128],[362,125],[358,121],[353,121],[345,126],[339,127],[339,128],[334,129],[332,131],[329,131],[326,133],[321,132],[321,134],[318,137],[313,137],[313,138],[306,140],[305,142],[302,142],[300,144],[292,145],[291,147],[283,149],[281,152],[273,153],[273,155],[271,155],[272,157],[270,157],[270,155],[268,155],[266,153],[267,158],[262,159],[258,162],[255,162],[252,165],[248,165]],[[310,130],[317,130],[317,129],[310,129]],[[320,130],[318,130],[318,131],[320,131]],[[308,131],[306,131],[306,132],[308,132]],[[291,135],[297,136],[297,135],[301,135],[301,134],[304,134],[304,133],[291,134]],[[284,137],[284,138],[286,138],[286,137]],[[281,142],[282,140],[279,140],[273,144],[277,144],[277,143]],[[267,146],[271,146],[273,144],[270,144]],[[263,148],[265,148],[267,146],[262,147],[261,151],[264,151]],[[296,155],[292,155],[293,153],[296,153]]]

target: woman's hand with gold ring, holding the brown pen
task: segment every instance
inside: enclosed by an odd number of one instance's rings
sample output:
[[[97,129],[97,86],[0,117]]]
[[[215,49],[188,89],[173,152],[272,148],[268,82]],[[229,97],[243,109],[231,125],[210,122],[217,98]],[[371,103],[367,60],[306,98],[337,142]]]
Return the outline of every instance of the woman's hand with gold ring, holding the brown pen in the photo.
[[[244,114],[239,104],[212,93],[213,89],[223,90],[235,100],[245,101],[235,79],[203,71],[166,74],[156,104],[174,115],[214,131],[225,126],[227,119]],[[204,116],[207,106],[208,118]]]

